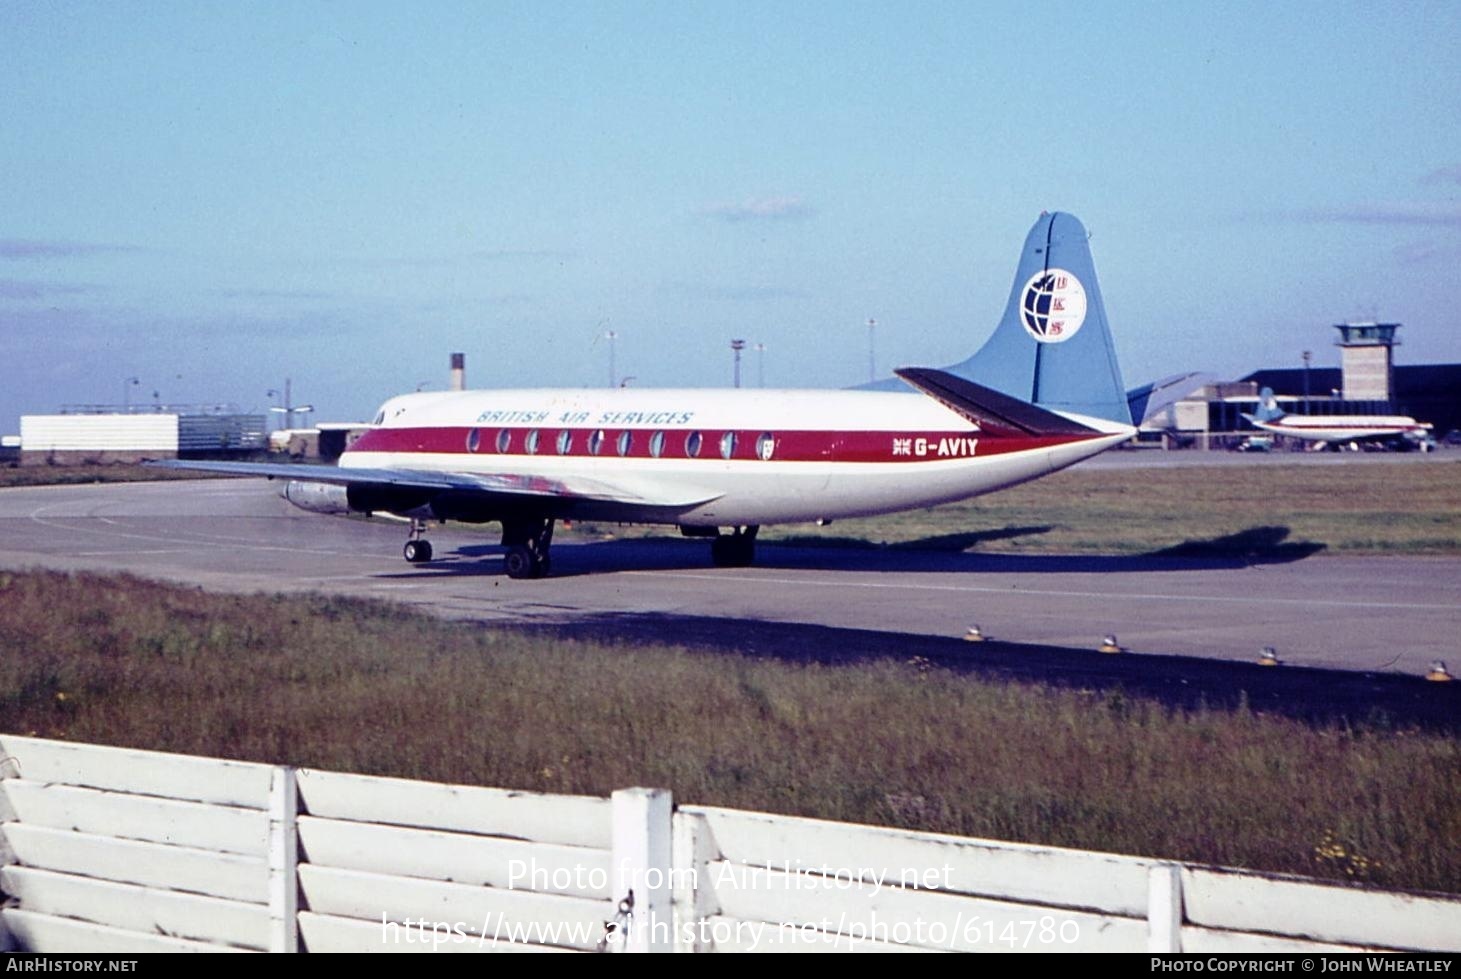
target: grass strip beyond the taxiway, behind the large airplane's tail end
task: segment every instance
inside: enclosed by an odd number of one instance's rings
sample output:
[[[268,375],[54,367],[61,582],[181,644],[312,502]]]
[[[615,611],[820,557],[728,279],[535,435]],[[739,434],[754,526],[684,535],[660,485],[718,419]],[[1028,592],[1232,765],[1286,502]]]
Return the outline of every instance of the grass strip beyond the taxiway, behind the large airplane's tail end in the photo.
[[[1461,460],[1274,462],[1077,468],[932,510],[766,527],[761,539],[1020,554],[1461,554]]]

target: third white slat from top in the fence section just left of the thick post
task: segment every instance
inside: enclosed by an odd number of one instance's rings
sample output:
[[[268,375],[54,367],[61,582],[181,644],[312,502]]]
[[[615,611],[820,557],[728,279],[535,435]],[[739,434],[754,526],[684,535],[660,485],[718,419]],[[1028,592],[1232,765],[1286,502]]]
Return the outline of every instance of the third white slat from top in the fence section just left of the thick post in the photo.
[[[606,900],[384,877],[310,864],[300,866],[300,885],[310,910],[371,922],[381,934],[387,931],[383,922],[396,922],[397,926],[389,931],[397,941],[443,923],[447,932],[462,931],[473,938],[506,941],[514,935],[536,935],[542,940],[539,944],[593,948],[603,935],[603,922],[614,916]],[[405,928],[408,919],[416,925]]]

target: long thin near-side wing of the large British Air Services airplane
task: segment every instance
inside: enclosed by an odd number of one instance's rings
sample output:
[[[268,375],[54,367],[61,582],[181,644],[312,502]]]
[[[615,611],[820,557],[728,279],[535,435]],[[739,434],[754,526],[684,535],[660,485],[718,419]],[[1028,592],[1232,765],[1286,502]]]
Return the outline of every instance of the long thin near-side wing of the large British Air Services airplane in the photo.
[[[437,490],[451,492],[481,492],[494,497],[532,497],[552,500],[600,500],[652,507],[690,507],[714,500],[719,494],[691,490],[647,495],[627,487],[615,487],[600,479],[581,476],[526,476],[506,472],[435,472],[431,469],[355,469],[276,462],[209,462],[161,459],[146,463],[156,469],[191,469],[229,476],[267,476],[269,479],[302,479],[340,487],[397,487],[402,490]]]

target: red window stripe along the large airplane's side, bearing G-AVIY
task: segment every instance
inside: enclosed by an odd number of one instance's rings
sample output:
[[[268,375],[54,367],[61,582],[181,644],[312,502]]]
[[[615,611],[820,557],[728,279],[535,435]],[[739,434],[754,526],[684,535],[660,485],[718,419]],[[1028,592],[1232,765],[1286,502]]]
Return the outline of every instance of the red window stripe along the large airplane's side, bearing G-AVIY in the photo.
[[[498,452],[498,438],[507,433],[507,450]],[[473,435],[475,433],[475,435]],[[527,440],[538,434],[536,452],[527,452]],[[560,437],[567,433],[567,452],[560,452]],[[602,433],[598,453],[590,452],[590,438]],[[619,452],[619,437],[628,433],[628,452]],[[694,435],[700,435],[698,454],[691,456]],[[726,435],[735,435],[730,454],[725,454]],[[763,435],[771,440],[770,457],[777,462],[937,462],[967,459],[969,456],[1001,456],[1030,449],[1049,449],[1094,435],[996,437],[973,430],[966,431],[733,431],[726,430],[666,430],[644,428],[374,428],[351,446],[351,452],[413,452],[478,456],[573,456],[593,454],[615,459],[650,459],[659,440],[659,457],[695,457],[707,462],[720,459],[760,459]]]

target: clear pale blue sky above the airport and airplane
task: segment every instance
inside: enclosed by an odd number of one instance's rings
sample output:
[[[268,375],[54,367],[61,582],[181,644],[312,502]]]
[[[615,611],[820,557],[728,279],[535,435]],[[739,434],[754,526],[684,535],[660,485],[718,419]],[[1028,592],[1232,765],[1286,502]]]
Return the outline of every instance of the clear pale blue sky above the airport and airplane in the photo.
[[[1461,4],[0,4],[0,433],[970,354],[1040,210],[1128,384],[1461,361]],[[745,362],[748,383],[755,361]],[[130,384],[129,378],[137,378]]]

